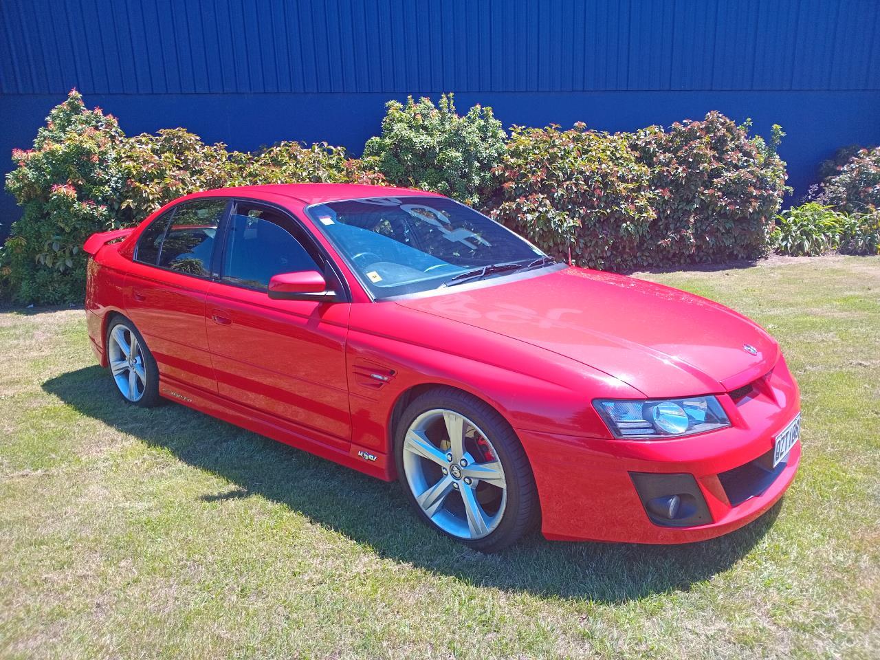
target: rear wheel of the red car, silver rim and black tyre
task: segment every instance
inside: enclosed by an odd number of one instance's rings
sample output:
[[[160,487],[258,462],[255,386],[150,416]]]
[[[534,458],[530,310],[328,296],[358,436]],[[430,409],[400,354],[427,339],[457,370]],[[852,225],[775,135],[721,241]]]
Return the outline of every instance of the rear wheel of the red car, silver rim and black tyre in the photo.
[[[157,406],[161,401],[159,370],[135,325],[128,319],[114,319],[107,327],[105,345],[110,376],[122,399],[132,406]]]

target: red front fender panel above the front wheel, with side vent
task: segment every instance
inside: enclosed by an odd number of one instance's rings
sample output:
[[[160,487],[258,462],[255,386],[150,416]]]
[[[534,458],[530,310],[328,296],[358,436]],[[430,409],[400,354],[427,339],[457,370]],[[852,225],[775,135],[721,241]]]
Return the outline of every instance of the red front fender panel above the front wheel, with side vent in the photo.
[[[393,302],[352,305],[347,370],[353,444],[384,455],[394,406],[417,385],[470,392],[515,429],[593,437],[608,434],[593,398],[640,396],[567,357]]]

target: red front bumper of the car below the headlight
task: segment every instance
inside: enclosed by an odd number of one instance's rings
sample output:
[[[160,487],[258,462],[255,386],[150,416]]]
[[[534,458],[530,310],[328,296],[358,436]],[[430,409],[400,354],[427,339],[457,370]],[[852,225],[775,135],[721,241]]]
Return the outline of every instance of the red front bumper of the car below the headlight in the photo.
[[[719,397],[732,426],[662,441],[560,436],[517,429],[528,453],[547,539],[673,544],[732,532],[768,510],[795,478],[798,441],[761,471],[774,436],[798,414],[797,385],[780,361],[740,400]],[[634,483],[639,475],[690,475],[705,510],[699,524],[658,524]],[[689,479],[689,477],[687,477]],[[663,481],[660,479],[658,481]],[[642,491],[644,488],[642,487]],[[644,495],[644,492],[642,492]]]

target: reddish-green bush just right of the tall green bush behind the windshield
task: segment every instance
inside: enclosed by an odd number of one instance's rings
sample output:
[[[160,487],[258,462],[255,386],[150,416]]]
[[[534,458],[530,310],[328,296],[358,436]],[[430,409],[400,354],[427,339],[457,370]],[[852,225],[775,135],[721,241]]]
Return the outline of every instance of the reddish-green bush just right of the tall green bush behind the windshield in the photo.
[[[654,195],[627,136],[514,127],[495,175],[491,215],[547,253],[590,268],[643,265]]]

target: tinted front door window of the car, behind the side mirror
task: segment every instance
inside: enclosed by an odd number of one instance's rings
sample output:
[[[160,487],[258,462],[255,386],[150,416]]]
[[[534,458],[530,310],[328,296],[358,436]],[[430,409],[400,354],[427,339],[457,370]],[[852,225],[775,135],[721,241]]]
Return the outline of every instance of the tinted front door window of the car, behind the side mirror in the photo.
[[[285,229],[290,220],[268,209],[238,209],[232,214],[224,250],[223,279],[232,284],[268,289],[280,273],[321,268]]]

